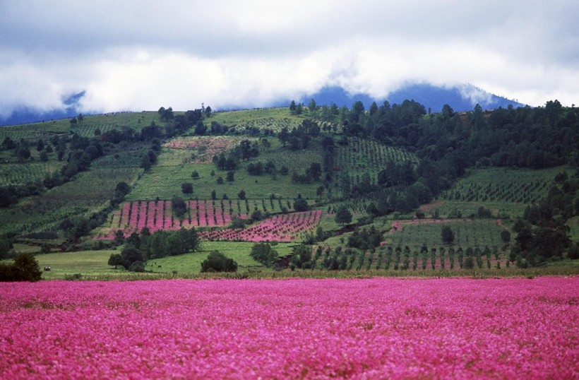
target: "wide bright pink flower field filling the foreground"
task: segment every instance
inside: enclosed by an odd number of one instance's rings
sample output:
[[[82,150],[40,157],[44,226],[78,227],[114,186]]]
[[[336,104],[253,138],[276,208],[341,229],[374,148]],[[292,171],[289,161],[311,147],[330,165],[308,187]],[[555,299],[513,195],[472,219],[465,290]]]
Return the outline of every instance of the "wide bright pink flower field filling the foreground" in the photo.
[[[579,278],[0,284],[2,379],[579,378]]]

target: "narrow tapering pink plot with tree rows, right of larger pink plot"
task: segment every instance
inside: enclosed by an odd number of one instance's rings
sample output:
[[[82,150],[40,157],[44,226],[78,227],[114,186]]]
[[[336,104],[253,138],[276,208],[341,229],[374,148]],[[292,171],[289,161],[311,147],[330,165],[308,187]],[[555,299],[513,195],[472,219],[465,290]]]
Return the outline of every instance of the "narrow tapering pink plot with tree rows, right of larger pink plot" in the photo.
[[[300,234],[314,228],[320,222],[322,210],[274,215],[256,225],[241,230],[203,231],[208,240],[239,242],[292,242]]]

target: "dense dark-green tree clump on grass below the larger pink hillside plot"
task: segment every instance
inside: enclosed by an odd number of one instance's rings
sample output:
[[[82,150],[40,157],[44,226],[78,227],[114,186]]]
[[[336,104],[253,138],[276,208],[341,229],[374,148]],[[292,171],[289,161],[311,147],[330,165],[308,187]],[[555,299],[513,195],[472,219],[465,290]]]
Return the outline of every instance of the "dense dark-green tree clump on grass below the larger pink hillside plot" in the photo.
[[[123,266],[129,271],[144,271],[150,259],[177,256],[201,249],[201,239],[194,228],[176,231],[159,230],[153,233],[143,227],[141,233],[133,232],[125,238],[121,230],[115,235],[117,244],[125,244],[121,254],[111,254],[109,265]]]

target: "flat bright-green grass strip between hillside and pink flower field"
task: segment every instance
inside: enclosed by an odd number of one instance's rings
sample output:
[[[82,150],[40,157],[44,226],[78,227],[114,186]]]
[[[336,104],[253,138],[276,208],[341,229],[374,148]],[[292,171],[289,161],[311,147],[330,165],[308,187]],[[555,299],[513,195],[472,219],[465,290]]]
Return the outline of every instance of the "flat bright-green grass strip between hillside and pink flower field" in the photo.
[[[278,244],[275,249],[280,256],[291,251],[292,244]],[[227,256],[231,257],[239,264],[239,275],[248,275],[252,278],[352,278],[352,277],[374,277],[374,276],[394,276],[394,277],[474,277],[474,278],[503,278],[503,277],[532,277],[539,275],[579,275],[579,261],[560,261],[548,266],[539,268],[521,269],[511,266],[501,269],[483,267],[471,270],[455,269],[450,270],[448,265],[445,269],[431,269],[430,263],[426,270],[412,269],[402,270],[384,269],[384,262],[381,261],[381,268],[376,269],[376,256],[374,263],[367,268],[369,254],[365,256],[365,264],[362,269],[352,268],[348,271],[326,271],[319,269],[284,269],[273,271],[264,268],[249,257],[250,243],[206,243],[203,251],[184,254],[181,256],[171,256],[163,259],[150,261],[145,273],[131,273],[121,268],[114,269],[107,265],[109,256],[119,253],[118,250],[105,251],[82,251],[37,255],[36,259],[40,268],[50,266],[50,271],[44,271],[44,280],[139,280],[155,278],[223,278],[230,276],[225,273],[200,273],[201,261],[203,261],[211,249],[219,249]]]

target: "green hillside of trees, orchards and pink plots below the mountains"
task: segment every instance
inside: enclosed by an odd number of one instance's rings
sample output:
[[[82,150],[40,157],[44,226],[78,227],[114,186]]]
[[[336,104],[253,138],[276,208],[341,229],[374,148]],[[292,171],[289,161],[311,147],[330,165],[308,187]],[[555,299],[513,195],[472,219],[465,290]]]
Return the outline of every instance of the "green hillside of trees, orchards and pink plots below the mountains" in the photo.
[[[278,249],[289,261],[275,268],[306,272],[419,271],[426,259],[448,271],[448,251],[459,248],[475,266],[488,249],[493,261],[484,266],[503,270],[575,258],[575,109],[423,108],[162,108],[2,128],[0,254],[120,253],[143,227],[182,227],[266,271],[271,263],[249,257],[256,242],[293,244]],[[441,240],[443,226],[453,240]],[[162,239],[171,251],[173,238]],[[246,242],[244,253],[234,254],[234,242]],[[156,271],[152,260],[167,259],[150,249],[143,246],[145,268]],[[193,256],[165,266],[183,273],[193,260],[198,271],[201,256]]]

